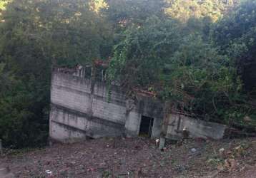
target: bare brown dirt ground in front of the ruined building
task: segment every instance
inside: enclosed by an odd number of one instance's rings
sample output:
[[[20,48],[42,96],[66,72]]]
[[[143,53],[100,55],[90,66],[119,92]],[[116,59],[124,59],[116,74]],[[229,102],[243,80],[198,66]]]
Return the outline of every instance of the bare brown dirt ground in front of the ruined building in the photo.
[[[256,177],[256,138],[185,140],[164,150],[146,138],[87,140],[0,158],[15,177]]]

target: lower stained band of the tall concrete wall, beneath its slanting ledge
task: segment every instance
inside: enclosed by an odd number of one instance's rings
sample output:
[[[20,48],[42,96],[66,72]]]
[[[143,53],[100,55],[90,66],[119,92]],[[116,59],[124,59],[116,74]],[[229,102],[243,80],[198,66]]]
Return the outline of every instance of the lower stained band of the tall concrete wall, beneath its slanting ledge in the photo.
[[[50,135],[61,142],[73,142],[75,140],[89,137],[119,136],[123,132],[124,125],[116,122],[94,117],[89,119],[88,115],[69,110],[60,106],[51,105]]]

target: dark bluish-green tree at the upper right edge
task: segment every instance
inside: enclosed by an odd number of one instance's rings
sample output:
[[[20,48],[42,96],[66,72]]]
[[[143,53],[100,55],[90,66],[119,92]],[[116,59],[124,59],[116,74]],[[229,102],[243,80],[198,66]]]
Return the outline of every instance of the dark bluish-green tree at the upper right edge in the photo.
[[[245,89],[256,88],[256,1],[245,1],[229,16],[217,23],[214,37],[222,53],[234,59],[238,72],[245,83]]]

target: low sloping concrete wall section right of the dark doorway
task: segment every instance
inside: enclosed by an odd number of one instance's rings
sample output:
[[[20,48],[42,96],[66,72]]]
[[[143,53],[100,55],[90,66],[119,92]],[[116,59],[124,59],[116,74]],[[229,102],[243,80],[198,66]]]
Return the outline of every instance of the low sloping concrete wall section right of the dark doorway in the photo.
[[[184,128],[189,132],[189,137],[219,140],[224,136],[226,126],[214,122],[196,120],[184,115],[169,115],[167,138],[174,140],[182,138],[182,130]]]

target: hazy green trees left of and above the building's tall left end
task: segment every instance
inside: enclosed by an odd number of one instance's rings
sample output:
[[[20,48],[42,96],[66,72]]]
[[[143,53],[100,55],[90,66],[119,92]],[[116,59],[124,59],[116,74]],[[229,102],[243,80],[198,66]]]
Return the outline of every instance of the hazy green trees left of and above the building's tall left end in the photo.
[[[107,58],[111,33],[87,0],[15,0],[1,19],[0,138],[8,147],[44,145],[51,66]]]

